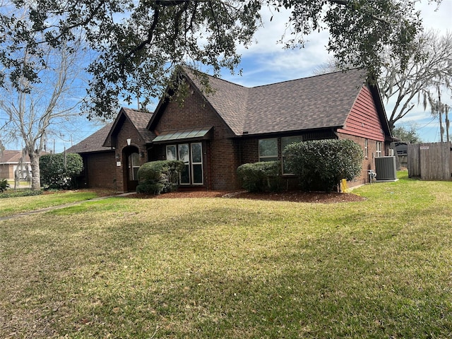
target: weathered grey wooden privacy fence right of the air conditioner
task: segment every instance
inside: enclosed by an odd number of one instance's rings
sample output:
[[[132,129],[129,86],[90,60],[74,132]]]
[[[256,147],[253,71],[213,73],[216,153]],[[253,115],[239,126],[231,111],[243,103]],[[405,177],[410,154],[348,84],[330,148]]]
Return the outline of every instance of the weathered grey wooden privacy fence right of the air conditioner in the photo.
[[[422,180],[452,180],[452,143],[408,145],[408,177]]]

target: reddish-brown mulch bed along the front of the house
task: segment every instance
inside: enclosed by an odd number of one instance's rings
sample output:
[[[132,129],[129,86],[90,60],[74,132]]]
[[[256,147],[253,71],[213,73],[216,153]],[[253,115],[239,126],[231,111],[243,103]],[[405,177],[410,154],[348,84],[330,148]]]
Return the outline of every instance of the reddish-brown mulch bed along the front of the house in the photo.
[[[128,198],[245,198],[270,201],[295,201],[298,203],[345,203],[363,201],[362,196],[337,192],[284,191],[273,193],[248,193],[244,191],[176,191],[153,196],[149,194],[129,194]]]

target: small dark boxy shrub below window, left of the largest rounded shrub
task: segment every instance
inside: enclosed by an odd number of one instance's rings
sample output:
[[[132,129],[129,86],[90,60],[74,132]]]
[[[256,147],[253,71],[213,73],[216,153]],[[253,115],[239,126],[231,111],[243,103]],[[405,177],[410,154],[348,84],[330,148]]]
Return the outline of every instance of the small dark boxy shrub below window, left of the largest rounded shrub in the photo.
[[[237,175],[249,192],[276,191],[280,187],[280,162],[263,161],[240,165]]]

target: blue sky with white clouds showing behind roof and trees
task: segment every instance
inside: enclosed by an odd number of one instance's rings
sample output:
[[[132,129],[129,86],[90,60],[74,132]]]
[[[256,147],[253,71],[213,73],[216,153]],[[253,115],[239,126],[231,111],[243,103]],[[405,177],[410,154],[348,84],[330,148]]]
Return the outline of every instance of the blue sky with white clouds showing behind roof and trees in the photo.
[[[422,0],[418,5],[421,11],[424,28],[432,28],[440,33],[451,31],[452,25],[452,0],[443,0],[441,6],[437,8],[436,3],[429,4],[429,1]],[[307,37],[305,47],[302,49],[283,49],[283,45],[278,44],[287,22],[287,13],[270,13],[267,9],[262,13],[264,26],[258,30],[254,37],[254,44],[249,48],[239,47],[242,54],[242,62],[239,69],[242,74],[230,74],[229,71],[221,73],[221,77],[232,83],[253,87],[256,85],[266,85],[280,81],[289,81],[297,78],[313,76],[314,71],[319,66],[331,59],[331,54],[326,50],[328,43],[328,32],[315,32]],[[270,16],[273,20],[270,22]],[[452,93],[443,96],[443,100],[452,107]],[[386,104],[386,111],[391,112],[391,102]],[[130,108],[137,108],[131,106]],[[429,112],[424,112],[422,105],[408,114],[407,119],[403,119],[396,126],[415,124],[418,135],[424,142],[436,142],[439,139],[439,121],[432,119]],[[69,148],[91,133],[100,129],[99,124],[93,124],[84,117],[73,126],[71,133],[65,132],[61,136],[48,141],[48,150],[55,150],[59,153],[64,148]],[[20,149],[20,142],[8,145],[9,148]]]

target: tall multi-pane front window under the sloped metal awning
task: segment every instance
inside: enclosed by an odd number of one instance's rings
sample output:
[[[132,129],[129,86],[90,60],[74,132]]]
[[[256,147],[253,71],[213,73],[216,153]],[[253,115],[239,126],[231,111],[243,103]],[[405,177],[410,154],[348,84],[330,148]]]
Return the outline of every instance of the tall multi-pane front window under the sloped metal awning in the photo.
[[[203,176],[203,144],[179,143],[166,146],[167,160],[184,162],[184,169],[179,175],[181,185],[202,185]]]

